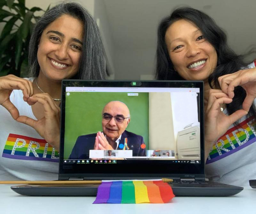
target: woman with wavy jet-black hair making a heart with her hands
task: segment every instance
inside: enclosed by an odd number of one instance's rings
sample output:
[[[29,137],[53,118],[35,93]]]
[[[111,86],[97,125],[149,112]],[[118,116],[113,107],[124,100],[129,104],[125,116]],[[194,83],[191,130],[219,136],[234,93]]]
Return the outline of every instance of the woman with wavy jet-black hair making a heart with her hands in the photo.
[[[193,8],[174,10],[157,36],[158,80],[204,81],[206,174],[248,185],[256,178],[256,61],[245,63],[214,20]]]

